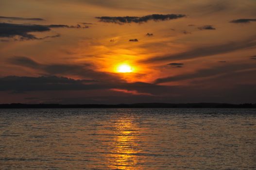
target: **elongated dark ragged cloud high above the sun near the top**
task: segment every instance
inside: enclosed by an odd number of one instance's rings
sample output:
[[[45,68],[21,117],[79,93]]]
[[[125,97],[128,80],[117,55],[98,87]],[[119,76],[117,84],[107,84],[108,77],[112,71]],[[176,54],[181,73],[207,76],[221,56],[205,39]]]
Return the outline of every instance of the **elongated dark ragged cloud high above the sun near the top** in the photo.
[[[143,17],[96,17],[100,19],[101,22],[110,22],[110,23],[117,23],[117,24],[124,24],[124,23],[144,23],[149,20],[154,21],[164,21],[164,20],[171,20],[171,19],[177,19],[181,17],[186,17],[186,15],[182,14],[153,14]]]

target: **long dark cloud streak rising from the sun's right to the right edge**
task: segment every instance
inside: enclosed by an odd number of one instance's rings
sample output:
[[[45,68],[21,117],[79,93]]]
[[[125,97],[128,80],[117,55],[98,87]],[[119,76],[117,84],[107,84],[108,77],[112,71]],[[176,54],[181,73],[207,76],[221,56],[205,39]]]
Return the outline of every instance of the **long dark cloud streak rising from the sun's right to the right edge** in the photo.
[[[198,57],[205,57],[205,56],[227,53],[231,51],[242,50],[242,49],[255,47],[255,46],[256,46],[256,37],[252,36],[252,38],[246,39],[243,41],[229,42],[221,45],[199,47],[199,48],[191,49],[182,53],[159,56],[159,57],[154,57],[147,60],[142,60],[141,62],[150,63],[150,62],[166,61],[166,60],[172,61],[172,60],[198,58]]]

